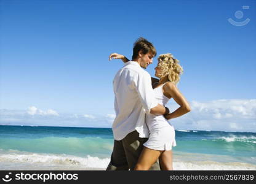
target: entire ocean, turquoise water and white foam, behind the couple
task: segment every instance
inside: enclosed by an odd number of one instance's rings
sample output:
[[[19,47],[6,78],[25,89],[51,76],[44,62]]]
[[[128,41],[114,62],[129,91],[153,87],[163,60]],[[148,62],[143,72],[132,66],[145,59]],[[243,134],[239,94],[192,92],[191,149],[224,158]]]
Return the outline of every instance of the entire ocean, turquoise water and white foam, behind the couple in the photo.
[[[176,130],[175,170],[255,170],[256,133]],[[105,170],[110,128],[0,126],[0,170]]]

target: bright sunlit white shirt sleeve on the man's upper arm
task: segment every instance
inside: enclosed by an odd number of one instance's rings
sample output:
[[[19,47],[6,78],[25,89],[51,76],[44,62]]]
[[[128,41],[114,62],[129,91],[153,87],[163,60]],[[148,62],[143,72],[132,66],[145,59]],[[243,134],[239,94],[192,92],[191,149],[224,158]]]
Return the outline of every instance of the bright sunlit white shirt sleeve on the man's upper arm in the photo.
[[[154,96],[154,91],[151,86],[150,74],[148,74],[148,72],[138,74],[134,85],[144,109],[146,112],[150,112],[150,109],[158,105],[158,101]]]

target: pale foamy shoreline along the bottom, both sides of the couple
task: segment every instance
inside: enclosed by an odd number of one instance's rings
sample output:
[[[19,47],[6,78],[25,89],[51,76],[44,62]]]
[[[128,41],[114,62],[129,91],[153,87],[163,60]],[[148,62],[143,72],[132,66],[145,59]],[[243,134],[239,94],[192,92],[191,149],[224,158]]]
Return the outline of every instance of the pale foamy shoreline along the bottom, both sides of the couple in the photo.
[[[1,151],[0,151],[1,153]],[[174,170],[256,170],[255,157],[235,158],[226,155],[184,153],[174,151]],[[239,161],[239,162],[238,162]],[[0,170],[105,171],[110,157],[74,156],[65,154],[30,153],[9,150],[0,154]]]

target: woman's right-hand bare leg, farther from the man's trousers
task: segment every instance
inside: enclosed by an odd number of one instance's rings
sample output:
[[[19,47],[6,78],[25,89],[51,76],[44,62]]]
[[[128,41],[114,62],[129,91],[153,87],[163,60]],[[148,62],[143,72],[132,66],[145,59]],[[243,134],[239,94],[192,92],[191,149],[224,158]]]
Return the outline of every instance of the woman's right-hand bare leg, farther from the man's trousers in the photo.
[[[172,167],[172,150],[162,152],[159,156],[159,164],[162,171],[174,170]]]

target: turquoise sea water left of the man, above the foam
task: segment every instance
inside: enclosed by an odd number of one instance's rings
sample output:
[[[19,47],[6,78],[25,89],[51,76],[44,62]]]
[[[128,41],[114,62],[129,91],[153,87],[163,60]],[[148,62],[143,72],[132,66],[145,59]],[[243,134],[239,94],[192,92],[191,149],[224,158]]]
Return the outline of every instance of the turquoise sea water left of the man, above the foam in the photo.
[[[0,149],[108,157],[113,134],[106,128],[0,126]]]

